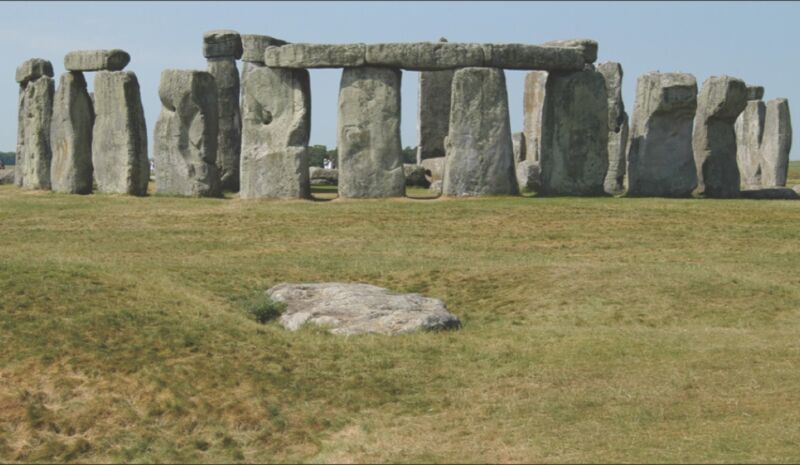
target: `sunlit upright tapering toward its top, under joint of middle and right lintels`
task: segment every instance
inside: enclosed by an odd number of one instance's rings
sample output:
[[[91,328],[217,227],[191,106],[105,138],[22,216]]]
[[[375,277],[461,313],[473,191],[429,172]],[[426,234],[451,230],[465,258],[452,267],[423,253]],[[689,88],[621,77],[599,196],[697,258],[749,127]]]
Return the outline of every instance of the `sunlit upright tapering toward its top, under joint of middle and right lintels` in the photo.
[[[456,71],[445,148],[443,195],[519,193],[503,70]]]

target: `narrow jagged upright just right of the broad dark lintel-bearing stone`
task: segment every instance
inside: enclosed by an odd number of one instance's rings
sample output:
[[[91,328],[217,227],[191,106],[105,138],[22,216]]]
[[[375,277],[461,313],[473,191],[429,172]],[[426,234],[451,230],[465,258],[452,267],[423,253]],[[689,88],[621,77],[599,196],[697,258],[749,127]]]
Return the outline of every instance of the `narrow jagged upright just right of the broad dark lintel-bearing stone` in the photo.
[[[608,96],[608,171],[604,188],[608,194],[624,191],[625,146],[628,141],[628,114],[622,101],[622,65],[615,62],[597,65],[606,81]]]

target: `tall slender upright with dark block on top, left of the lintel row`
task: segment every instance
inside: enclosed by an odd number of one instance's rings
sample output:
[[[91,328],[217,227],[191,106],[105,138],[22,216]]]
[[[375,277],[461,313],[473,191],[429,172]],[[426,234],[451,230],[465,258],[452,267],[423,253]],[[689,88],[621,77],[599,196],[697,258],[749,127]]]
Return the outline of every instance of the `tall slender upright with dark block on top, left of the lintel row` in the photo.
[[[208,61],[208,72],[214,76],[217,85],[217,167],[222,188],[232,191],[239,190],[242,117],[236,60],[241,58],[242,52],[242,39],[236,31],[216,30],[203,34],[203,56]]]

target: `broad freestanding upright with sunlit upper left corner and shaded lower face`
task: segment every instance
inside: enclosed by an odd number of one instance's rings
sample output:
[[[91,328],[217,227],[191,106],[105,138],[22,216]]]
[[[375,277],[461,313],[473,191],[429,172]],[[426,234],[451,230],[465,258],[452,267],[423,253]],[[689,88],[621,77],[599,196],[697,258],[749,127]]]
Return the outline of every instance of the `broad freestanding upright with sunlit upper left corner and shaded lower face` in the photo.
[[[686,197],[697,185],[692,120],[697,81],[685,73],[647,73],[636,83],[628,195]]]

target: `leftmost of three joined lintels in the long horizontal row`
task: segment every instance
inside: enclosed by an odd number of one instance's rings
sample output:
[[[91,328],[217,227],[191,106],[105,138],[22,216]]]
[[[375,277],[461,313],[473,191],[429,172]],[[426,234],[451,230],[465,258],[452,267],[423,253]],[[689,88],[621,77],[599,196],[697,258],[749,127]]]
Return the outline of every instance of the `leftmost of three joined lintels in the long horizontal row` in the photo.
[[[347,68],[364,66],[365,44],[286,44],[267,47],[264,63],[272,68]]]

